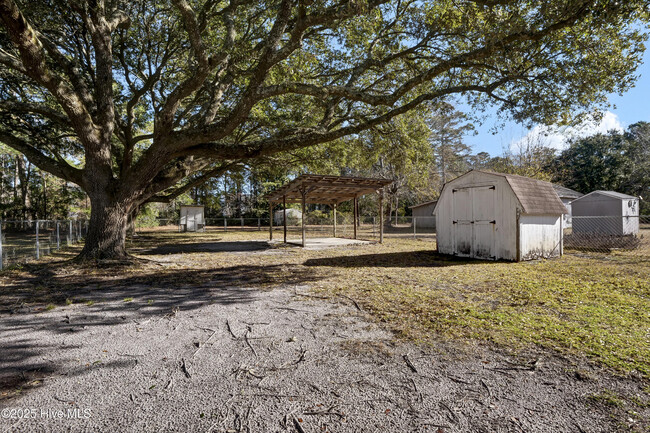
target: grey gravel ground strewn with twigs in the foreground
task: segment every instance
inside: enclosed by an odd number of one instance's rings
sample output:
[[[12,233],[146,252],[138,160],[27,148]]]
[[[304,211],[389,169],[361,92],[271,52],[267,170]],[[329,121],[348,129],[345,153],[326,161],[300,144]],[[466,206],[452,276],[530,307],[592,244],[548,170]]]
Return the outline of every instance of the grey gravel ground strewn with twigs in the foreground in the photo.
[[[308,283],[201,277],[59,287],[75,301],[50,309],[4,302],[0,432],[650,431],[640,377],[535,348],[400,341]]]

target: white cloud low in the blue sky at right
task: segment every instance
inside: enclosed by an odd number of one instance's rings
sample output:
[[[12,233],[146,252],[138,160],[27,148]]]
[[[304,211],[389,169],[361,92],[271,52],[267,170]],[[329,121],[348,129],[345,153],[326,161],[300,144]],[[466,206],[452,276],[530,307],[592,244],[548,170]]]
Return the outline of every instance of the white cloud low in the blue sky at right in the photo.
[[[600,122],[586,120],[577,126],[552,127],[537,125],[530,129],[523,137],[510,142],[510,149],[515,151],[526,143],[544,144],[553,149],[563,150],[567,141],[573,138],[588,137],[611,130],[622,132],[625,128],[618,116],[611,111],[603,113]]]

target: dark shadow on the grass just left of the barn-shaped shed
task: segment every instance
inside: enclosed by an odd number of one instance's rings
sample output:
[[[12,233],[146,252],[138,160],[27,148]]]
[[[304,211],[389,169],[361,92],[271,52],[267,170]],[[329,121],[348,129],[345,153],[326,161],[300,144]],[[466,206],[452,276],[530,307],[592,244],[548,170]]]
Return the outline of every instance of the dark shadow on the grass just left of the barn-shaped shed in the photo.
[[[438,254],[436,251],[405,251],[383,254],[324,257],[309,259],[303,264],[305,266],[331,266],[340,268],[431,268],[492,263],[499,262],[447,256],[444,254]]]

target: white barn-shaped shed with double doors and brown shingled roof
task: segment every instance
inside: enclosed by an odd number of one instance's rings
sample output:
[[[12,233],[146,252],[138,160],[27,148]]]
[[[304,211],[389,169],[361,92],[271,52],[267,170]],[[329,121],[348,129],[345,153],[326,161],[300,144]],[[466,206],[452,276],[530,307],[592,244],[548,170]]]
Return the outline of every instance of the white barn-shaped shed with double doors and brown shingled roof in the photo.
[[[434,209],[438,252],[488,260],[558,257],[565,213],[551,183],[472,170],[442,188]]]

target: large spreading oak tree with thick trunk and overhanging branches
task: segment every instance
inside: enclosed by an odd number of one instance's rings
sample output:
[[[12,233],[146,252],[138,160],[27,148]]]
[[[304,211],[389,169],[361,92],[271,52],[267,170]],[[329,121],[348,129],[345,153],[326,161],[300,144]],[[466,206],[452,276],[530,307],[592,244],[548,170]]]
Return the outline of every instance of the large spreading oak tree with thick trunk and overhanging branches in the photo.
[[[0,0],[0,141],[90,197],[82,258],[232,164],[454,95],[551,123],[629,87],[647,1]]]

